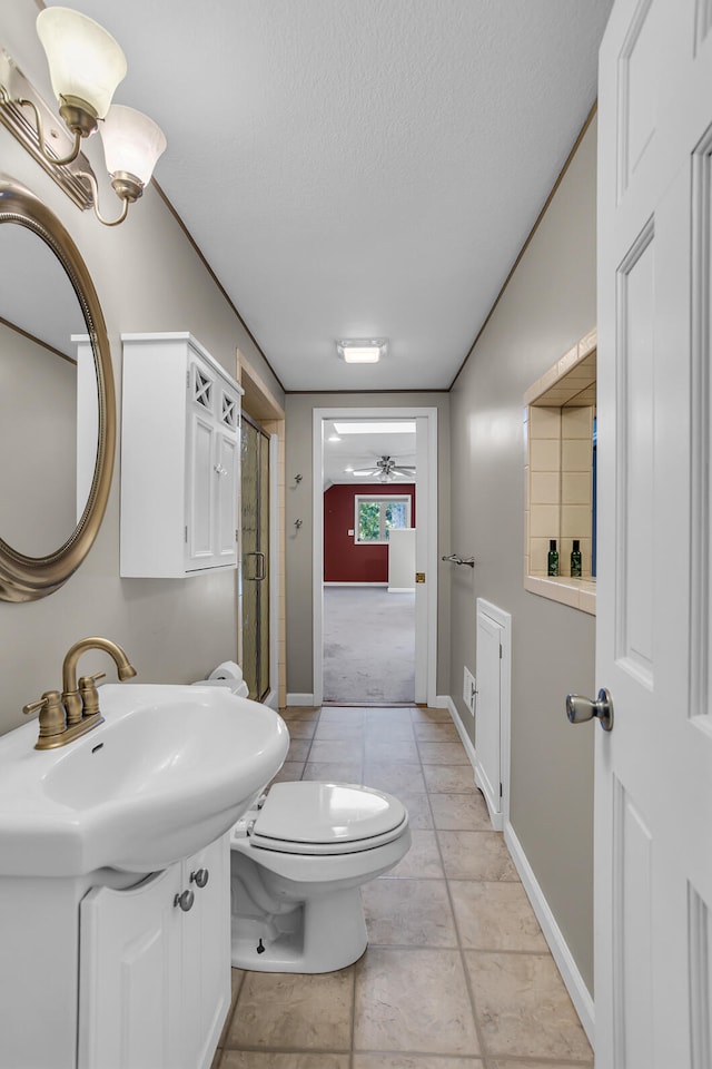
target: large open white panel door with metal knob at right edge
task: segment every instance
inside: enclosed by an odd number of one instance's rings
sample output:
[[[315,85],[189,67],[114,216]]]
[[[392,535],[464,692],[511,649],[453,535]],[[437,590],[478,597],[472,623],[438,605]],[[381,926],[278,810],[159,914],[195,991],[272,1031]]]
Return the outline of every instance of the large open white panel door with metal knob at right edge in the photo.
[[[712,1066],[711,23],[616,0],[601,49],[597,1069]]]

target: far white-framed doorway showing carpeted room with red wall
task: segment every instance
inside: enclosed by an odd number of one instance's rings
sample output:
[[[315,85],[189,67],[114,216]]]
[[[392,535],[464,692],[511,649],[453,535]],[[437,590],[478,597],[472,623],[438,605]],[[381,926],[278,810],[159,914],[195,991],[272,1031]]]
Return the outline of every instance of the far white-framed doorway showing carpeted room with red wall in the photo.
[[[398,425],[377,448],[369,435],[387,422]],[[365,429],[344,431],[347,423]],[[406,424],[411,452],[399,437]],[[352,435],[360,445],[344,445]],[[329,512],[326,494],[339,486],[348,491],[332,496],[347,498],[346,512],[343,502]],[[435,705],[437,409],[316,409],[314,487],[314,703]],[[334,513],[340,548],[328,530]],[[347,569],[340,581],[334,557]],[[403,566],[392,570],[396,558]]]

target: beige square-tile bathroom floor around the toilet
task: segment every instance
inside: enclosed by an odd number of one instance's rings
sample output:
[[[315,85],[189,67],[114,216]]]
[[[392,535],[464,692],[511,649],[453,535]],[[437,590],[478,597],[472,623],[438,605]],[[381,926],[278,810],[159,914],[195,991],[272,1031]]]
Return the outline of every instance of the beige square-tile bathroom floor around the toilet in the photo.
[[[212,1069],[581,1069],[593,1055],[445,709],[287,709],[278,779],[366,783],[413,846],[363,889],[369,944],[339,972],[233,970]]]

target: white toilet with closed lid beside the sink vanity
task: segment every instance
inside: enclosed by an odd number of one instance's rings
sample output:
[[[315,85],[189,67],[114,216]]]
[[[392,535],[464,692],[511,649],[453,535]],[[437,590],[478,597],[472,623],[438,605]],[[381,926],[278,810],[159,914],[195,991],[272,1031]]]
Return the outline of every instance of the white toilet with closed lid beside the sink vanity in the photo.
[[[220,681],[244,687],[237,666]],[[314,973],[356,961],[367,943],[359,889],[409,846],[408,813],[393,795],[355,784],[274,784],[231,833],[233,964]]]

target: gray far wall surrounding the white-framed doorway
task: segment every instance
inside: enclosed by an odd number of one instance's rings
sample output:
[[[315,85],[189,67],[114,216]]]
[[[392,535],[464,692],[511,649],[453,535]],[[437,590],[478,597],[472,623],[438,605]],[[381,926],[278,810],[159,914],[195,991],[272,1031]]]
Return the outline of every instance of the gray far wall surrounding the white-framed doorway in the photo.
[[[449,539],[449,396],[445,393],[291,393],[286,403],[286,572],[287,572],[287,690],[290,694],[313,694],[313,413],[326,408],[437,408],[438,451],[438,561]],[[304,475],[296,486],[295,473]],[[322,493],[322,488],[319,488]],[[300,518],[304,527],[295,531],[294,521]],[[449,572],[439,566],[438,573],[438,694],[446,686],[449,646],[449,614],[447,590]]]

